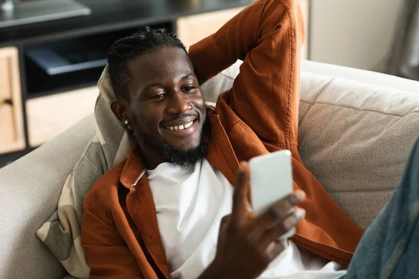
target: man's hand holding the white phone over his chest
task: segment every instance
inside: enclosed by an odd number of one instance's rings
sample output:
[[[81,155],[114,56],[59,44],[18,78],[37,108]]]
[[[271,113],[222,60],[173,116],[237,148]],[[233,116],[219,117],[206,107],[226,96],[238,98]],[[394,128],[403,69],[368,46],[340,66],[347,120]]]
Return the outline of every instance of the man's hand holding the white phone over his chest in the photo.
[[[303,209],[287,214],[304,200],[301,190],[277,200],[257,217],[249,214],[250,181],[249,163],[242,162],[234,185],[232,212],[221,220],[214,261],[200,278],[256,278],[284,251],[284,241],[278,241],[279,237],[304,217]]]

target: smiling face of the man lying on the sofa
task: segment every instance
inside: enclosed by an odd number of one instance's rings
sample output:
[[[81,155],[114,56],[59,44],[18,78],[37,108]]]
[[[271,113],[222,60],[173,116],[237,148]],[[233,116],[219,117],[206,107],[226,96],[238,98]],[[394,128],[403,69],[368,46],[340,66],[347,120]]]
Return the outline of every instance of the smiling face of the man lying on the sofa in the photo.
[[[165,146],[186,153],[198,148],[205,98],[186,52],[157,48],[126,65],[128,119],[140,147],[155,154],[164,153]]]

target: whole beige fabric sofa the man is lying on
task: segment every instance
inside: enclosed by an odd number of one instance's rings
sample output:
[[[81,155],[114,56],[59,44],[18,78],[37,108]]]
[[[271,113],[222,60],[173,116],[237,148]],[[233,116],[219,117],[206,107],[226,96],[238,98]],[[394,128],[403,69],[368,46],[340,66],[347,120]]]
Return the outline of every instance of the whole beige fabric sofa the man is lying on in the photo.
[[[207,100],[231,86],[239,66],[203,86]],[[416,92],[419,82],[411,80],[302,64],[302,160],[362,229],[391,195],[418,137]],[[66,276],[35,232],[54,213],[61,187],[94,133],[89,116],[0,169],[0,278]]]

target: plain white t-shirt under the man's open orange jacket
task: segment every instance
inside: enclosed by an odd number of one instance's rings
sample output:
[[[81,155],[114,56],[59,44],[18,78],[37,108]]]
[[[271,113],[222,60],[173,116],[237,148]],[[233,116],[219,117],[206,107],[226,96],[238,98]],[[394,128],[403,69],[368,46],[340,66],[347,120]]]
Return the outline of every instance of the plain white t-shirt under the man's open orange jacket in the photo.
[[[162,163],[147,170],[172,278],[198,278],[215,257],[221,218],[231,213],[233,186],[206,159],[191,167]],[[259,278],[335,279],[346,271],[288,240]]]

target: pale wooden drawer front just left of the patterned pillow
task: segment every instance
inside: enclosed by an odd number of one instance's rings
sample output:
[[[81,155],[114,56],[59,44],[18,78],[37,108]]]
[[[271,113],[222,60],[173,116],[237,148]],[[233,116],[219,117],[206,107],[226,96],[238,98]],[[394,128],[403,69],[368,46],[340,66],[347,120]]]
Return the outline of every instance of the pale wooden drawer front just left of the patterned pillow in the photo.
[[[96,86],[27,101],[29,145],[39,146],[94,112]]]

